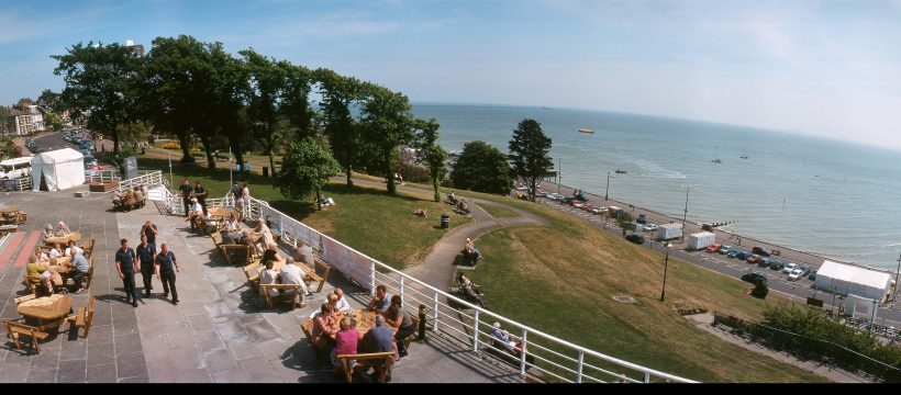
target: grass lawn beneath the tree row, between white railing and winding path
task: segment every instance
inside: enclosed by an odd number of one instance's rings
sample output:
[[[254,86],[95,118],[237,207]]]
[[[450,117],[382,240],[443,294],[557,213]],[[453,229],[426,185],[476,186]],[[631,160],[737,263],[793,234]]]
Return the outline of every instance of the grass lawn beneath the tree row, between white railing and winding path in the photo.
[[[138,168],[159,169],[168,178],[167,159],[140,157]],[[186,177],[191,184],[200,179],[212,198],[223,196],[230,189],[227,168],[207,169],[174,162],[173,173],[176,185]],[[336,205],[318,212],[312,198],[297,202],[282,196],[278,188],[272,187],[271,178],[252,173],[247,184],[251,196],[267,201],[274,208],[397,269],[420,262],[447,233],[438,227],[436,214],[425,218],[413,215],[419,208],[431,213],[446,211],[447,205],[432,202],[425,195],[389,196],[383,189],[354,187],[348,190],[344,184],[330,183],[323,195],[332,196]],[[471,218],[455,215],[451,226],[470,222]]]

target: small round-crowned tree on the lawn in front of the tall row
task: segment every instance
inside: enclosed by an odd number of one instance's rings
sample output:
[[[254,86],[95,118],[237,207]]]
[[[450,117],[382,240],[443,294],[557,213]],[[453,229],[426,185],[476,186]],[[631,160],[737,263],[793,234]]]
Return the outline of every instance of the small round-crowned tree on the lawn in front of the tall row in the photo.
[[[322,210],[322,187],[338,172],[341,166],[335,158],[314,138],[307,137],[288,146],[281,158],[278,188],[282,195],[293,200],[315,192],[316,208]]]

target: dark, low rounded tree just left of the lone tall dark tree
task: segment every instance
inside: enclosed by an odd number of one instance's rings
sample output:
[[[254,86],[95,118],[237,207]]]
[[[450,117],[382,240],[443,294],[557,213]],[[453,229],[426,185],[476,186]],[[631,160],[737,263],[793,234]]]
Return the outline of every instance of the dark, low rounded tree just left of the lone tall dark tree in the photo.
[[[469,142],[463,146],[451,182],[454,188],[500,195],[510,193],[513,188],[507,156],[485,142]]]

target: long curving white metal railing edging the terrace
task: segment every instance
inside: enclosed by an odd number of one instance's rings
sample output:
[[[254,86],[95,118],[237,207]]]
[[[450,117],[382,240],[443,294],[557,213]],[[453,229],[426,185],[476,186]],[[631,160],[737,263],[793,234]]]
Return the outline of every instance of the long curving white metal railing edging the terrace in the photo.
[[[180,208],[180,201],[168,189],[166,194],[177,200],[174,207],[170,204],[170,208],[175,208],[170,210],[170,213],[175,213]],[[167,201],[171,202],[171,199]],[[491,335],[488,330],[490,330],[491,324],[489,321],[503,323],[508,329],[512,329],[511,334],[520,337],[522,342],[523,352],[520,353],[519,358],[512,354],[504,357],[519,365],[522,375],[526,374],[527,369],[533,369],[556,380],[575,383],[603,383],[608,381],[650,383],[654,377],[671,382],[694,383],[694,381],[685,377],[645,368],[574,345],[472,305],[301,224],[299,221],[270,207],[269,203],[265,201],[251,198],[249,204],[246,206],[241,203],[236,205],[235,203],[231,194],[226,194],[222,199],[207,200],[208,206],[210,204],[241,206],[246,219],[260,216],[271,217],[272,228],[279,230],[282,235],[280,238],[283,242],[282,247],[289,250],[293,249],[294,241],[302,239],[320,252],[320,259],[323,262],[342,272],[344,276],[363,289],[368,290],[370,294],[375,294],[378,284],[383,284],[401,295],[404,305],[426,306],[431,311],[431,317],[426,317],[426,320],[432,324],[431,330],[441,330],[449,335],[456,334],[454,335],[455,338],[464,336],[469,339],[472,351],[479,351],[480,347],[490,348]],[[414,303],[409,303],[410,301]],[[472,311],[472,314],[466,313],[467,311]],[[500,354],[504,356],[504,351],[501,351]],[[535,363],[527,362],[526,354],[532,356]],[[591,361],[586,361],[586,358],[590,358]],[[598,366],[591,362],[610,366]],[[619,372],[611,369],[616,369]],[[623,372],[623,370],[626,372]],[[635,379],[636,375],[639,375],[639,377]]]

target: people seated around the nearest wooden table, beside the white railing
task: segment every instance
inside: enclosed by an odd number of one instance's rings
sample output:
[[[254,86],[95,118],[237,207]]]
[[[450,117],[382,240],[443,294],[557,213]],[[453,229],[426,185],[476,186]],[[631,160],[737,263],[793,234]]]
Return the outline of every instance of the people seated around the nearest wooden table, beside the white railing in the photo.
[[[375,326],[360,334],[344,292],[335,289],[329,294],[329,302],[313,314],[312,341],[320,350],[329,352],[335,368],[342,368],[337,360],[341,354],[394,351],[394,360],[407,356],[403,339],[416,328],[403,308],[400,295],[390,296],[385,285],[378,285],[367,312],[375,315]],[[351,360],[348,366],[353,369],[355,364],[356,361]]]

